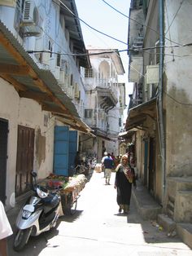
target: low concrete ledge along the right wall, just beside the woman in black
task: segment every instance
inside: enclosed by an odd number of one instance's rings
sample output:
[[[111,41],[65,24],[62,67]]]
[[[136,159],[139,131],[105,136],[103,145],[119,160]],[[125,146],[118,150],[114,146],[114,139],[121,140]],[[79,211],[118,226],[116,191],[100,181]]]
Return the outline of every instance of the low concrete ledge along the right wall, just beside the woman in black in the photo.
[[[162,207],[155,201],[148,190],[137,181],[137,189],[132,190],[133,200],[137,206],[137,212],[146,219],[157,219]]]

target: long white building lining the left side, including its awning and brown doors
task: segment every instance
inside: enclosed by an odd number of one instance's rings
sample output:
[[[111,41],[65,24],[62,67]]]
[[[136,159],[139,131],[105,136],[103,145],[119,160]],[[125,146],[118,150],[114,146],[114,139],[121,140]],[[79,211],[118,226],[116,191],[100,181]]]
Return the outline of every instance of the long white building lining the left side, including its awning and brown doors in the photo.
[[[81,134],[90,131],[81,121],[85,87],[80,75],[89,60],[76,56],[86,52],[81,26],[66,7],[77,14],[74,1],[0,2],[0,196],[7,208],[27,191],[31,170],[43,179],[60,168],[56,126],[68,138],[76,132],[72,157]],[[69,144],[67,139],[66,169],[72,164]]]

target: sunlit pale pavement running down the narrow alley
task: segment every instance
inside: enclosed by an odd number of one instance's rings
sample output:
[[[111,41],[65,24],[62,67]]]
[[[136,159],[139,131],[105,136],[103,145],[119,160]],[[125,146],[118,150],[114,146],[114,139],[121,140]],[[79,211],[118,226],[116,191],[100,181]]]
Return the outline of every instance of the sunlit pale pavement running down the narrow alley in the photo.
[[[111,185],[105,185],[103,173],[94,172],[81,191],[76,214],[59,218],[55,230],[30,237],[20,253],[12,250],[11,236],[9,256],[192,255],[178,236],[168,237],[155,221],[143,221],[133,200],[129,214],[119,214],[114,179],[112,173]]]

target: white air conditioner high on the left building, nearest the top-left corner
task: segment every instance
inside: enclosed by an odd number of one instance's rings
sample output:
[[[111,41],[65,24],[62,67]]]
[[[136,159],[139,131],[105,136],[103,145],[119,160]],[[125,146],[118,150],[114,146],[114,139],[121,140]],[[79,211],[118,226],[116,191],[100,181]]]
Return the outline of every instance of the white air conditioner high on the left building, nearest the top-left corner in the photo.
[[[24,27],[24,35],[37,37],[41,34],[41,18],[34,1],[24,1],[24,12],[21,26]]]

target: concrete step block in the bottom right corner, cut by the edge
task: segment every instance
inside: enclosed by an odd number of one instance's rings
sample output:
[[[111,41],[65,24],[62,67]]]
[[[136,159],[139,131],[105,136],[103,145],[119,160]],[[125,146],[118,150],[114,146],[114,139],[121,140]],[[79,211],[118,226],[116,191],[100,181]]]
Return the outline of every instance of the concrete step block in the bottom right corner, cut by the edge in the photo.
[[[181,240],[192,249],[192,224],[177,223],[177,233]]]

